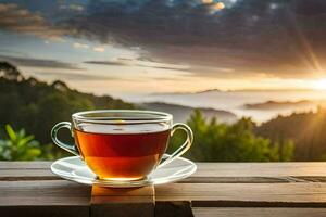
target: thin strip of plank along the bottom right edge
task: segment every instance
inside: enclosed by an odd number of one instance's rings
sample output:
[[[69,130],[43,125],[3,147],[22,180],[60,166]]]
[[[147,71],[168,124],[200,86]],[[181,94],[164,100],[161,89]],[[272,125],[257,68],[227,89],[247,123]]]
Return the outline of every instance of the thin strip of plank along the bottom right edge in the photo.
[[[325,217],[326,208],[193,208],[197,217]]]

